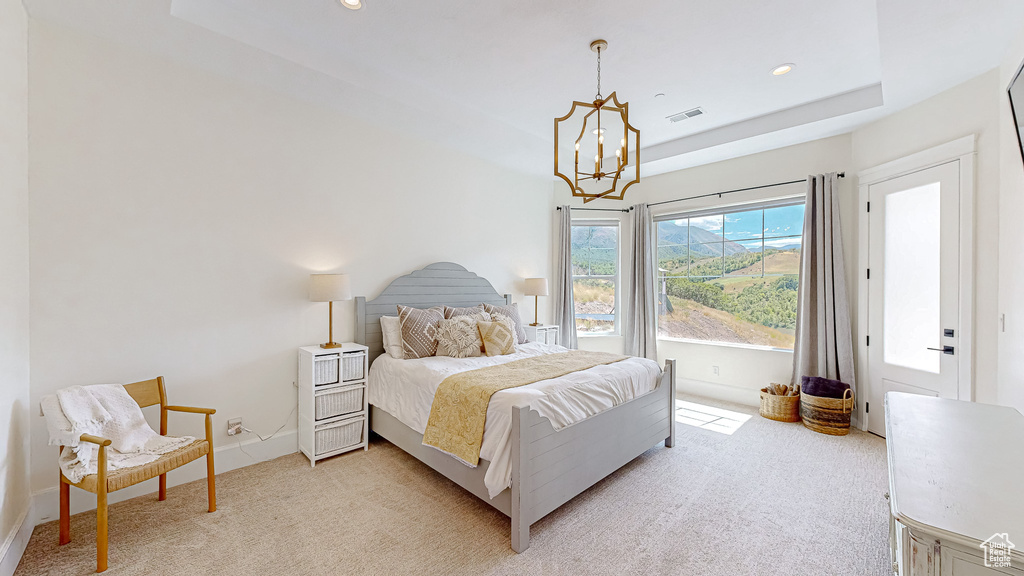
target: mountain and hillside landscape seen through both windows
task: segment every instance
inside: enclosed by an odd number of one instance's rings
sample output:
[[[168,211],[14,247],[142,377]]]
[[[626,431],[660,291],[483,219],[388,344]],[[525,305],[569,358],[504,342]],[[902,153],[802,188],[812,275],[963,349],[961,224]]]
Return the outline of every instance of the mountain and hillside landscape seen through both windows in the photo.
[[[798,204],[657,222],[658,335],[792,348],[803,219]],[[614,330],[617,244],[615,225],[572,227],[581,333]]]

